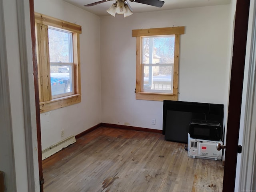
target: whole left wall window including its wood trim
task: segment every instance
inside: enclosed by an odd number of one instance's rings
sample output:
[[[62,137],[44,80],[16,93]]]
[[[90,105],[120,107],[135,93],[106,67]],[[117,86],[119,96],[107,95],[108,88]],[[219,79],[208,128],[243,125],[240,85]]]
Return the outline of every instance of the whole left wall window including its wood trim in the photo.
[[[81,26],[35,13],[40,112],[81,102]]]

